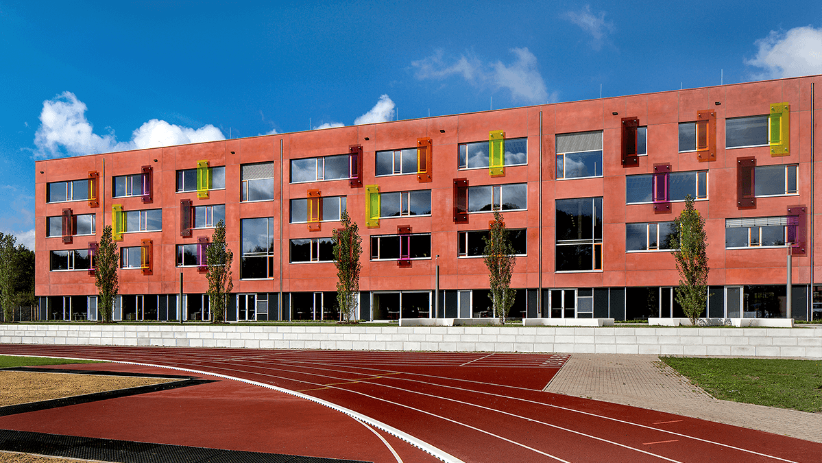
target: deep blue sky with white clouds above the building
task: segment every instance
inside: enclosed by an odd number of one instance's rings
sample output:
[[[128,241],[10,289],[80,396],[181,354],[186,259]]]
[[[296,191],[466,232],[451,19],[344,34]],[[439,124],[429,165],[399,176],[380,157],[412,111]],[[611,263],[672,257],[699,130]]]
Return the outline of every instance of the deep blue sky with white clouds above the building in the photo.
[[[822,3],[0,0],[0,232],[34,161],[822,73]]]

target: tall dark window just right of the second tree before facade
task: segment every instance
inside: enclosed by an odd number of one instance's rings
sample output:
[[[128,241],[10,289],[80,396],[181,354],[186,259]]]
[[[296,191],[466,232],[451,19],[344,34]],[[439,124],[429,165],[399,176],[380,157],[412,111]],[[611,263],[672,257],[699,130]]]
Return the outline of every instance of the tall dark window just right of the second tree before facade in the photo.
[[[240,220],[240,278],[256,279],[274,276],[273,217]]]

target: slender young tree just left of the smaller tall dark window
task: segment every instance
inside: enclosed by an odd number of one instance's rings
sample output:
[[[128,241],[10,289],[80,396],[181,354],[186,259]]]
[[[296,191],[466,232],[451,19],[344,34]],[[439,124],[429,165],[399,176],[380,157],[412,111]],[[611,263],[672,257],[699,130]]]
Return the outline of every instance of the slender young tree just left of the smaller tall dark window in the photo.
[[[205,278],[208,280],[208,301],[211,308],[211,322],[225,322],[226,296],[234,289],[231,262],[234,254],[225,244],[225,224],[219,221],[211,243],[205,248]]]

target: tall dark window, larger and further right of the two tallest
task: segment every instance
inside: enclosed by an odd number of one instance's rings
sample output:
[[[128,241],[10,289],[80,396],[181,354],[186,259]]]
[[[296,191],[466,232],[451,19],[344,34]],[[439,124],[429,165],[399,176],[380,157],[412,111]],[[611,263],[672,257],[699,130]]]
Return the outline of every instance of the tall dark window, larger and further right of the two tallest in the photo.
[[[556,200],[556,271],[602,270],[603,198]]]

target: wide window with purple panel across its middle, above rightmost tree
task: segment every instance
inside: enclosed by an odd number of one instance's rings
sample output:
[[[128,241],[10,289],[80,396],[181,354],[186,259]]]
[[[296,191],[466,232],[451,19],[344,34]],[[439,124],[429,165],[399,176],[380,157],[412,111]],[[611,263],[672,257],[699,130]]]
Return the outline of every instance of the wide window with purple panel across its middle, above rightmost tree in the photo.
[[[690,170],[671,172],[667,175],[667,201],[685,201],[690,196],[695,199],[708,198],[708,171]],[[653,174],[626,175],[625,203],[643,204],[653,202]],[[666,201],[658,198],[658,201]]]

